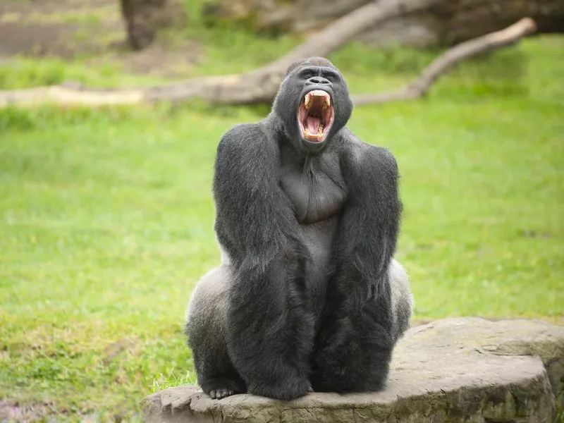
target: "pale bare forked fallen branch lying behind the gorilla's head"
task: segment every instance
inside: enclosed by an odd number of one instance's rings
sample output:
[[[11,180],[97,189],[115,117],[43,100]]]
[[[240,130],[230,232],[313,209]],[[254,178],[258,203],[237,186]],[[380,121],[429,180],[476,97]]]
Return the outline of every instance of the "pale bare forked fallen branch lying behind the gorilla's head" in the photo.
[[[410,2],[410,7],[425,7],[431,0]],[[417,6],[418,5],[418,6]],[[303,44],[274,62],[255,71],[240,75],[222,75],[173,82],[148,88],[94,90],[80,85],[51,85],[25,90],[0,91],[0,107],[59,104],[74,106],[109,106],[140,104],[143,102],[186,102],[202,99],[209,103],[256,104],[271,102],[276,95],[286,69],[293,61],[309,56],[326,56],[341,47],[363,28],[397,16],[405,11],[397,0],[384,0],[367,4],[337,20],[321,32],[312,35]],[[446,51],[419,78],[406,87],[388,93],[357,94],[355,104],[384,103],[417,99],[424,96],[436,80],[456,63],[471,56],[514,44],[532,34],[536,28],[531,18],[498,32],[472,39]]]

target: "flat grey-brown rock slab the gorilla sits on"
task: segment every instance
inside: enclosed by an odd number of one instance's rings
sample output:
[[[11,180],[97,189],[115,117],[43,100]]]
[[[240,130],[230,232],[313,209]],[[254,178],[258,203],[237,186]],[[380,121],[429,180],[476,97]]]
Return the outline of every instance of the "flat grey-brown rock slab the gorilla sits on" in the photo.
[[[445,319],[407,331],[378,393],[310,393],[290,402],[248,394],[212,400],[197,386],[155,393],[149,422],[553,422],[564,407],[564,327]],[[555,400],[555,394],[560,396]]]

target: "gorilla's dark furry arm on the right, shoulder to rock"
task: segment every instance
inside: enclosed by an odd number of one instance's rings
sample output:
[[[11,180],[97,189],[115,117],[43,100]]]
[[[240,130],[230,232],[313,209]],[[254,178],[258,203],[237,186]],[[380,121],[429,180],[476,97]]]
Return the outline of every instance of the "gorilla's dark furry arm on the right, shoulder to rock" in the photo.
[[[341,156],[347,186],[335,266],[317,335],[312,384],[318,391],[384,388],[394,343],[388,267],[396,250],[402,205],[396,159],[346,133]]]

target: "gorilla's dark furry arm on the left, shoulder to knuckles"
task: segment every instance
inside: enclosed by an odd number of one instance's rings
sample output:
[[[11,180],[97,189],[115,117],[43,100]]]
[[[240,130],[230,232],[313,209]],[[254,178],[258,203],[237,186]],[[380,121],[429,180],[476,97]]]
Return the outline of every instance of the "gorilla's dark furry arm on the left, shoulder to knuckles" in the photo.
[[[313,319],[304,306],[307,257],[276,176],[278,147],[259,125],[223,135],[216,156],[216,233],[233,267],[228,353],[248,391],[307,393]]]

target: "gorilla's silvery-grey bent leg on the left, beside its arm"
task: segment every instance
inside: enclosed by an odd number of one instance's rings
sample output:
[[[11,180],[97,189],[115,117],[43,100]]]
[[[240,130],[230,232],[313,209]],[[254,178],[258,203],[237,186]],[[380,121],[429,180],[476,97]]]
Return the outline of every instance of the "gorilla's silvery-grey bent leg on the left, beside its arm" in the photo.
[[[226,313],[231,268],[227,264],[210,271],[198,282],[186,323],[198,383],[212,398],[221,399],[247,391],[233,367],[226,345]]]

